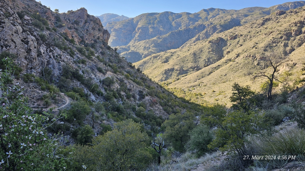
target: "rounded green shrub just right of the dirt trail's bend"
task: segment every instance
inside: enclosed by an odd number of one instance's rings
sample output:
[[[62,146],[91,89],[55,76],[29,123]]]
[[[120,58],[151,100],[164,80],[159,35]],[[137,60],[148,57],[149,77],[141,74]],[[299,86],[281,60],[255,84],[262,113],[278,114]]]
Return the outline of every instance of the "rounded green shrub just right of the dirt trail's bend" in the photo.
[[[89,115],[91,108],[85,101],[76,101],[71,103],[71,108],[67,111],[67,120],[73,122],[74,118],[78,124],[83,124],[83,120]]]

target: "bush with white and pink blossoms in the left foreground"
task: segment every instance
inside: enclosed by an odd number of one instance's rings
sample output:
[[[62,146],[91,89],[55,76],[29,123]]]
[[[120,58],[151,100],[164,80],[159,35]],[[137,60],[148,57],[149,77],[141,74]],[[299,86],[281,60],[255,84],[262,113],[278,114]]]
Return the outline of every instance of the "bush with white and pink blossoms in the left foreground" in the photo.
[[[13,60],[2,60],[0,71],[0,171],[65,170],[59,143],[48,137],[46,128],[63,115],[33,113],[19,83],[13,84]]]

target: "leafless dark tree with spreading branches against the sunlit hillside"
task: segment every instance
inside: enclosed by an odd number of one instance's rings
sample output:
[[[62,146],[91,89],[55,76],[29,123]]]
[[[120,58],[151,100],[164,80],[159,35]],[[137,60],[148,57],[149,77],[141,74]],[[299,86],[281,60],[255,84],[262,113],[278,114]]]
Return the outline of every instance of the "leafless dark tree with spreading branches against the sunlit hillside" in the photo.
[[[278,67],[284,63],[284,61],[281,61],[280,58],[276,58],[274,54],[271,54],[269,57],[267,57],[267,62],[271,65],[273,68],[273,71],[271,74],[268,74],[269,72],[266,70],[260,71],[257,75],[253,75],[253,78],[263,78],[267,79],[267,82],[264,84],[267,85],[268,91],[267,91],[267,97],[268,100],[272,99],[272,87],[273,87],[273,81],[277,80],[280,83],[283,83],[282,81],[278,80],[278,76],[275,75],[276,72],[278,72]]]

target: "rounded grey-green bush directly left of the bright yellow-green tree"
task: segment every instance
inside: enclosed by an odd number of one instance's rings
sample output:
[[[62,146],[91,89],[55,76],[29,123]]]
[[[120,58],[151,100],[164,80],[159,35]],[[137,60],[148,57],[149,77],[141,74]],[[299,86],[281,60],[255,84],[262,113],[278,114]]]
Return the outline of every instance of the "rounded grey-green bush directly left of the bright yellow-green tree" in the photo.
[[[213,135],[210,128],[206,125],[197,125],[191,132],[189,132],[190,139],[188,146],[191,150],[196,150],[198,156],[203,156],[210,149],[208,145],[213,140]]]

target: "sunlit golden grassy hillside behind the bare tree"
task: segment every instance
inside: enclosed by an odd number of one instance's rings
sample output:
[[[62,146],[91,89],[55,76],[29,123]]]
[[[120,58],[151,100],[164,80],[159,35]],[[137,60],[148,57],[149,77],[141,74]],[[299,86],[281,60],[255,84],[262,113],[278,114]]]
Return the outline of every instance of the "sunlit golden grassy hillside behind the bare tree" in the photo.
[[[303,10],[278,11],[185,48],[154,54],[135,65],[181,97],[191,93],[190,99],[199,103],[230,104],[234,82],[261,91],[262,80],[253,82],[249,73],[270,71],[270,64],[264,61],[269,51],[284,56],[278,75],[289,71],[298,76],[304,63]]]

